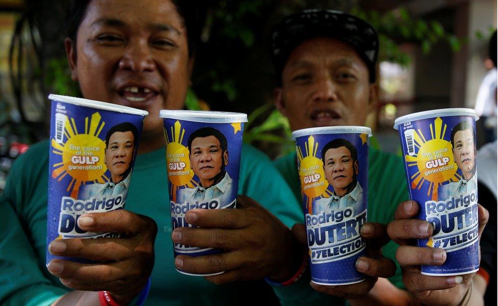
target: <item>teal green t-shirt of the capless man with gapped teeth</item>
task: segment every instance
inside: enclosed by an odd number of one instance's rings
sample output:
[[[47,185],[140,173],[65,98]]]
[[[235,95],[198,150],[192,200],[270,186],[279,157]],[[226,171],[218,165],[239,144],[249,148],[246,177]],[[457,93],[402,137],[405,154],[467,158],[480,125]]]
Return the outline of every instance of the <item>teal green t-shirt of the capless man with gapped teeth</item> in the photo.
[[[14,163],[0,201],[0,304],[47,305],[67,292],[45,267],[48,141],[33,145]],[[127,210],[152,217],[158,225],[152,287],[146,304],[235,304],[245,283],[214,285],[178,273],[173,265],[164,149],[137,156]],[[270,192],[271,191],[271,192]],[[271,161],[244,145],[239,193],[250,196],[287,226],[302,222],[295,197]],[[318,294],[306,282],[275,287],[283,304],[337,299]],[[252,293],[251,293],[252,294]],[[257,293],[256,293],[257,294]]]

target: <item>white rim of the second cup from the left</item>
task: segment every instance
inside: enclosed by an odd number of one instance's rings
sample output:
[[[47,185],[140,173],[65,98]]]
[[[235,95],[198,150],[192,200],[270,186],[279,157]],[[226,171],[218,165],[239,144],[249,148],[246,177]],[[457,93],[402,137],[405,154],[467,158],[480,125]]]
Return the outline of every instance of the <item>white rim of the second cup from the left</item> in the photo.
[[[247,122],[247,114],[216,111],[160,110],[159,117],[205,123]]]

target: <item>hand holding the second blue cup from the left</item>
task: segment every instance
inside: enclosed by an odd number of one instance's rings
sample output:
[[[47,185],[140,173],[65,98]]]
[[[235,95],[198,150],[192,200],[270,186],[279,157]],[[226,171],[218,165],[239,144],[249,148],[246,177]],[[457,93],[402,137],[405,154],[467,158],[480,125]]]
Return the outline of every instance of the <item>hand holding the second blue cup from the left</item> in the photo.
[[[214,284],[263,277],[286,281],[303,261],[305,251],[289,228],[249,197],[239,195],[237,209],[189,210],[185,220],[200,228],[175,228],[173,242],[222,248],[225,252],[200,257],[179,255],[175,266],[194,274],[225,271],[206,276]]]

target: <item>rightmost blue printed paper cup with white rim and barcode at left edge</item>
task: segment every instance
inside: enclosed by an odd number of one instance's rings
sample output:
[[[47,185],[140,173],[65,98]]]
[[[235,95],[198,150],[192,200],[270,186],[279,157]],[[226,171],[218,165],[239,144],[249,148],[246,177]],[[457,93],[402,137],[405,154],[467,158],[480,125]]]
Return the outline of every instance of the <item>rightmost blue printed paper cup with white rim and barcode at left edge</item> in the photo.
[[[472,109],[409,114],[394,121],[399,131],[410,199],[433,236],[419,247],[443,248],[440,266],[421,266],[424,275],[449,276],[479,269],[476,120]]]

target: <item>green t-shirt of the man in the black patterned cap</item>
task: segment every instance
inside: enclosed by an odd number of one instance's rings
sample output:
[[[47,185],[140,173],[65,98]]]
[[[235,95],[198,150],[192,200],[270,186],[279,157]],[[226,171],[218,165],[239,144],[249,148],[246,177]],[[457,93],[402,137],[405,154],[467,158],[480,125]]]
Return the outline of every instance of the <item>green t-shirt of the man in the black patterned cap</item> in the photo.
[[[297,171],[296,153],[281,157],[273,162],[301,203],[301,183]],[[370,222],[387,224],[394,218],[399,203],[408,200],[405,169],[400,157],[380,150],[368,150],[368,203],[367,215]],[[302,206],[300,205],[300,208]],[[394,262],[398,245],[389,241],[383,248],[384,256]],[[389,278],[394,286],[405,288],[402,281],[400,265],[396,262],[396,274]]]

